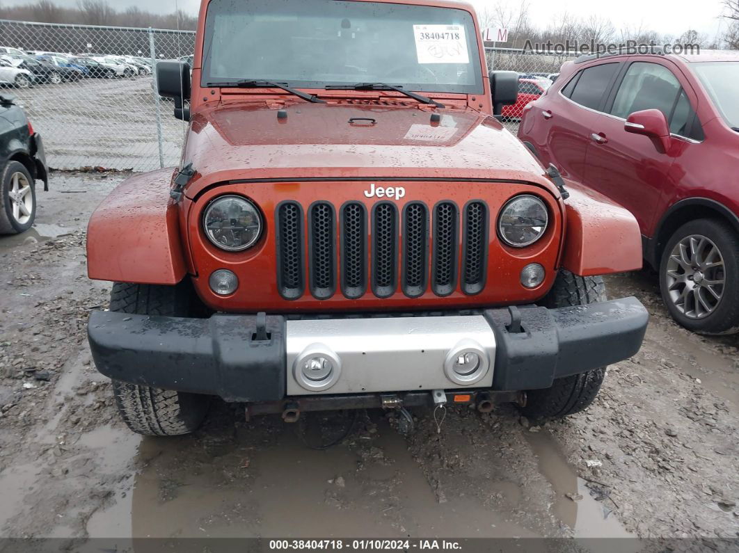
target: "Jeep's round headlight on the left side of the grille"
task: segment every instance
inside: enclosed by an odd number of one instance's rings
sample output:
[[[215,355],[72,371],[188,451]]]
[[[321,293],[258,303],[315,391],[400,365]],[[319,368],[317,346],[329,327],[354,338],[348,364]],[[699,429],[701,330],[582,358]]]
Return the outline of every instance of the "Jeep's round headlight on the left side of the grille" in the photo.
[[[208,240],[221,250],[240,252],[259,240],[262,216],[241,196],[221,196],[205,208],[202,227]]]

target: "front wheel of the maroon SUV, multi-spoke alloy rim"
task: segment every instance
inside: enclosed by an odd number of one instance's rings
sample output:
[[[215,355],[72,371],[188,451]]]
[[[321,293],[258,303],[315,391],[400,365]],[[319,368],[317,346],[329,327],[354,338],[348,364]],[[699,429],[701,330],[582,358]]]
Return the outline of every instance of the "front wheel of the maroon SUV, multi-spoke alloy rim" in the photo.
[[[718,282],[722,284],[709,284]],[[659,287],[670,315],[686,329],[738,332],[739,235],[720,219],[687,222],[664,247]]]

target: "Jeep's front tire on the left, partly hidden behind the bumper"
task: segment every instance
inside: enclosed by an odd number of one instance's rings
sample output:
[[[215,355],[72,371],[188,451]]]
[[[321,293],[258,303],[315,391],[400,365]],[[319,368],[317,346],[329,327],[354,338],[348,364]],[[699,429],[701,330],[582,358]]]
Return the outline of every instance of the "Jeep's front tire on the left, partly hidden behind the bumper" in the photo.
[[[177,286],[115,283],[110,311],[137,315],[185,317],[193,292],[188,281]],[[144,436],[179,436],[197,430],[208,412],[210,397],[160,390],[113,380],[113,395],[123,422]]]

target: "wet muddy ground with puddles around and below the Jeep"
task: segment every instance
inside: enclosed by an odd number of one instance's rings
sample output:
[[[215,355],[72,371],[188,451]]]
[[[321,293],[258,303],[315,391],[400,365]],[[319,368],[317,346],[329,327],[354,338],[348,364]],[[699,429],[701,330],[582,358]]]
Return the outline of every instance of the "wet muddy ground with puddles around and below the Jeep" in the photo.
[[[644,348],[565,421],[460,408],[438,432],[418,409],[403,437],[380,411],[246,423],[214,402],[194,436],[130,433],[85,339],[109,292],[86,221],[122,178],[53,174],[35,228],[0,237],[0,536],[739,536],[739,336],[676,326],[647,271],[607,279],[650,310]]]

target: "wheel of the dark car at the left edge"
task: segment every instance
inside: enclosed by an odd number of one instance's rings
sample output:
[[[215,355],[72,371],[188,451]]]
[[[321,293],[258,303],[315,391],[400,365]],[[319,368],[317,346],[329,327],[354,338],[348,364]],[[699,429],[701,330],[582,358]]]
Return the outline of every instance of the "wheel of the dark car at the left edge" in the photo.
[[[7,162],[0,168],[0,234],[23,233],[30,229],[35,217],[33,176],[22,163]]]

